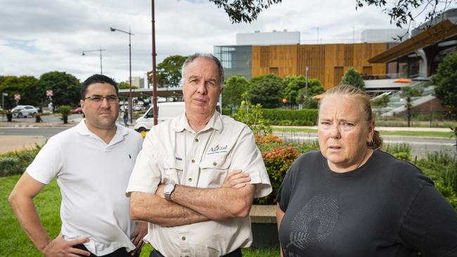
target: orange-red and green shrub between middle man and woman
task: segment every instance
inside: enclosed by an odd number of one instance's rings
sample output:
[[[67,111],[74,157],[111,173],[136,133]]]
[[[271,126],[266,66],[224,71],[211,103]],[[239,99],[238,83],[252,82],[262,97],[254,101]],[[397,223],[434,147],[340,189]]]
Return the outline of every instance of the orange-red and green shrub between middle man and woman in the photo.
[[[273,192],[266,197],[256,199],[257,204],[274,204],[276,201],[276,195],[278,195],[279,187],[283,182],[285,173],[288,171],[292,162],[299,157],[300,152],[295,149],[292,145],[278,146],[273,149],[262,153],[266,171],[268,172],[271,187]]]

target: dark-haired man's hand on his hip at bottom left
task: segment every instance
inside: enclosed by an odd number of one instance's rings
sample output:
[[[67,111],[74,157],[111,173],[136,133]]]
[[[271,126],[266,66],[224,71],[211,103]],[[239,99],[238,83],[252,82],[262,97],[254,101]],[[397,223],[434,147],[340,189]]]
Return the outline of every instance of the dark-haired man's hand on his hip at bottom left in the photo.
[[[62,234],[59,234],[56,239],[53,239],[46,247],[44,247],[43,254],[46,257],[90,256],[91,253],[89,251],[73,248],[73,246],[77,244],[84,244],[86,242],[89,242],[89,238],[85,237],[67,241],[63,239]]]

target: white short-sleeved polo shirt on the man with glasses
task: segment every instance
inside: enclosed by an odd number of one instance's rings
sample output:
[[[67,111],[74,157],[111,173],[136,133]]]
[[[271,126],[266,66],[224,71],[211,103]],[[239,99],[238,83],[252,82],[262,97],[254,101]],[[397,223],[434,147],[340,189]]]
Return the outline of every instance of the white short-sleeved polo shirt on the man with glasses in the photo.
[[[134,223],[124,191],[143,140],[131,129],[118,124],[116,129],[106,144],[87,129],[83,119],[49,138],[26,169],[44,184],[57,178],[63,237],[89,237],[84,245],[97,256],[121,247],[135,249],[129,239]]]

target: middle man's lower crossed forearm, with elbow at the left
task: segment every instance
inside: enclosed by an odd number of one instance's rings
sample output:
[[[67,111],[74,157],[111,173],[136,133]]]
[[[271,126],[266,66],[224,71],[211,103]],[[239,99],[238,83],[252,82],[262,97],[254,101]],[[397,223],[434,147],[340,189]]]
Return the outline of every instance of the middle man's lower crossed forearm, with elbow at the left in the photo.
[[[130,216],[133,220],[144,220],[165,227],[209,220],[192,209],[145,192],[131,193]]]

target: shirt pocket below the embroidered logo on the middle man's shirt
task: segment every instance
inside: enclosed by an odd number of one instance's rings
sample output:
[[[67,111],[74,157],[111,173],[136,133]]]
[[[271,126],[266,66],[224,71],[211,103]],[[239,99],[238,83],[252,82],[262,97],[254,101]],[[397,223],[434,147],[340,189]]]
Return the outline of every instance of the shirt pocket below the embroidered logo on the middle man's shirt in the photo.
[[[198,187],[221,187],[230,167],[228,154],[207,156],[200,162],[200,178]]]

